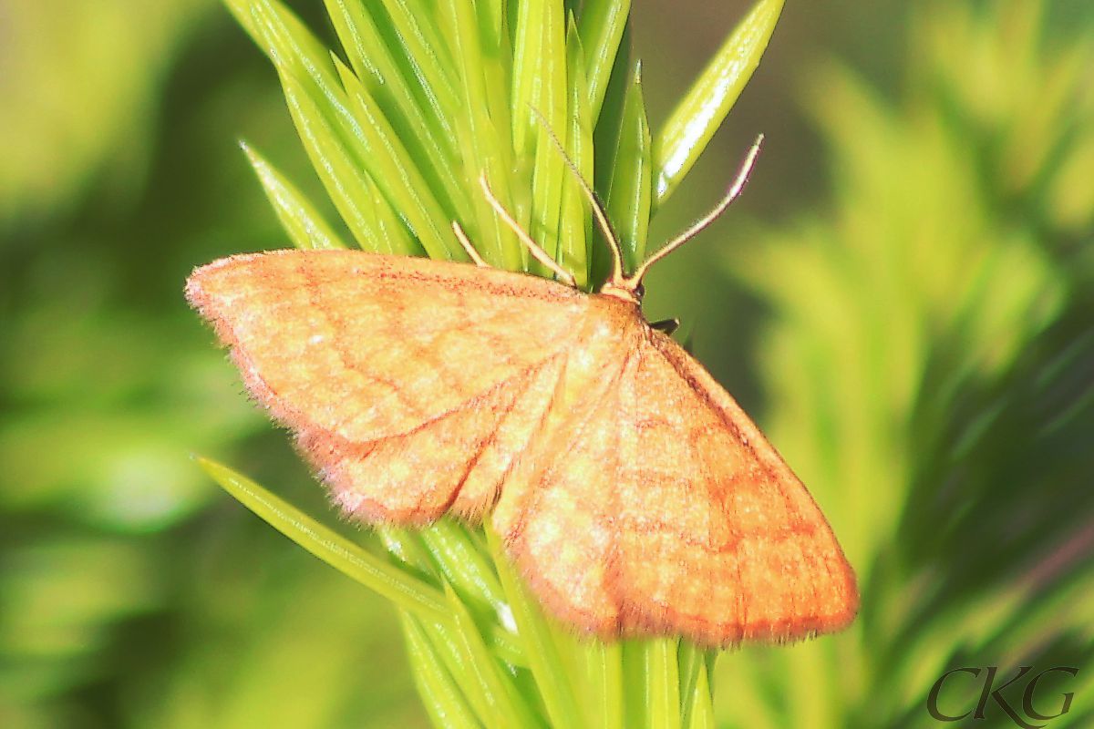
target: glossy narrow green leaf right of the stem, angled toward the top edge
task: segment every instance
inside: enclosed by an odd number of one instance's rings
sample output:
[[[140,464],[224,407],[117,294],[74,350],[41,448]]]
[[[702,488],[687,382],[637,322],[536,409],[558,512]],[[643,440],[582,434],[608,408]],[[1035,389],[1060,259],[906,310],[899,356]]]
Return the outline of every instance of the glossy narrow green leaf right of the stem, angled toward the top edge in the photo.
[[[775,32],[783,0],[757,0],[676,105],[653,145],[656,204],[673,193],[737,101]]]

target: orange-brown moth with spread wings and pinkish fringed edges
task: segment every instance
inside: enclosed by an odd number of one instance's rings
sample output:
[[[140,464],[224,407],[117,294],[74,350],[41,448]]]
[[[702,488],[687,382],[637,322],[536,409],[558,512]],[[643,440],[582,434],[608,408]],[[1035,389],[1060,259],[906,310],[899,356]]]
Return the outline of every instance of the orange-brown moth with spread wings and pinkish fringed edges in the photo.
[[[736,402],[640,308],[649,266],[598,293],[477,263],[349,250],[233,256],[189,302],[334,501],[369,524],[487,514],[551,613],[602,637],[706,646],[847,625],[854,576]],[[488,200],[512,222],[486,186]],[[519,237],[559,278],[527,234]]]

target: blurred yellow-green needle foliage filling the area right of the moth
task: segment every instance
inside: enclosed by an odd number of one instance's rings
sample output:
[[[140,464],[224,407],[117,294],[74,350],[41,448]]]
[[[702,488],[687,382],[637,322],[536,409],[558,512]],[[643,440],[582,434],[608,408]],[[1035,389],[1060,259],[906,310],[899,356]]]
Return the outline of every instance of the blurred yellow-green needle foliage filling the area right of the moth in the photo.
[[[1044,44],[1041,12],[920,10],[900,107],[816,71],[835,197],[732,248],[728,270],[773,313],[770,433],[863,603],[842,635],[724,661],[729,726],[936,726],[940,675],[990,666],[997,689],[1023,666],[1080,668],[1035,705],[1073,692],[1048,726],[1091,726],[1094,54]],[[977,706],[965,678],[947,715]],[[1017,712],[1025,685],[1004,693]],[[982,716],[967,726],[1016,726],[993,698]]]

